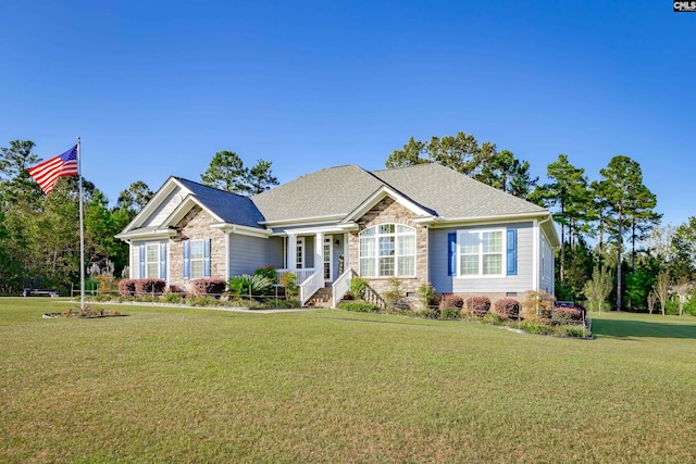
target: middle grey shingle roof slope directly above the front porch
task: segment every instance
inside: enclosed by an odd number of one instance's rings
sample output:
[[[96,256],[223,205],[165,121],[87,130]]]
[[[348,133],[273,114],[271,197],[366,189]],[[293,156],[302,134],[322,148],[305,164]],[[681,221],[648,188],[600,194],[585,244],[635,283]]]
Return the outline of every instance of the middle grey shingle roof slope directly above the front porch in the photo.
[[[347,215],[383,183],[356,165],[327,167],[252,197],[266,221]]]

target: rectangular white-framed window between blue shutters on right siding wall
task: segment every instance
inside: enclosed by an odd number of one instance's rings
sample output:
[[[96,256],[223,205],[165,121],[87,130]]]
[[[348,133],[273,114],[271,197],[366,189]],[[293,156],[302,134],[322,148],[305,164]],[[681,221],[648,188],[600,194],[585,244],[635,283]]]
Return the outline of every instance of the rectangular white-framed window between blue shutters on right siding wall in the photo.
[[[505,230],[459,230],[458,273],[461,277],[505,275]]]

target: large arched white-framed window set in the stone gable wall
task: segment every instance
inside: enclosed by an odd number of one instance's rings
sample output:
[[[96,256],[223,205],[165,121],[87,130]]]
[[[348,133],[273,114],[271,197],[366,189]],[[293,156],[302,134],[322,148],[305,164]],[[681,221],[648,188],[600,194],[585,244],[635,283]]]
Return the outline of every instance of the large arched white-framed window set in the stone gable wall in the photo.
[[[415,229],[402,224],[368,227],[359,235],[361,277],[415,277]]]

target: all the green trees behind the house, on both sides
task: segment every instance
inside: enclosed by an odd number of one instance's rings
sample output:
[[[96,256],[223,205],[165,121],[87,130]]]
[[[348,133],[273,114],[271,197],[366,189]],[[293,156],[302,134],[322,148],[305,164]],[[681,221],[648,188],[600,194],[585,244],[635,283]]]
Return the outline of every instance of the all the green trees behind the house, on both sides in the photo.
[[[27,172],[40,162],[34,148],[33,141],[13,140],[0,150],[0,293],[23,287],[66,291],[79,278],[77,178],[62,177],[50,196],[44,195]],[[644,185],[639,164],[629,156],[612,158],[591,180],[584,168],[559,154],[547,166],[546,183],[539,183],[527,161],[460,131],[427,141],[411,137],[385,161],[387,168],[422,163],[445,165],[548,208],[562,241],[556,260],[560,300],[594,301],[604,294],[617,309],[644,310],[655,302],[664,309],[668,300],[658,298],[664,296],[658,291],[664,281],[668,292],[691,292],[696,217],[676,227],[662,226],[657,198]],[[259,160],[247,167],[233,151],[215,153],[200,181],[246,196],[278,185],[271,162]],[[128,248],[114,235],[153,192],[136,180],[110,206],[94,184],[83,183],[86,262],[119,276],[127,266]]]

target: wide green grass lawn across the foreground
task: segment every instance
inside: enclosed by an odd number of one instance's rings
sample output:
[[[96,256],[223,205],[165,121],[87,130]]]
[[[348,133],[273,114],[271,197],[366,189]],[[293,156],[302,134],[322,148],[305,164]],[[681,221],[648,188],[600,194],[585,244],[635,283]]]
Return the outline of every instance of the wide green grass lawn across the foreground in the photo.
[[[0,462],[694,462],[696,319],[595,340],[321,310],[0,299]]]

